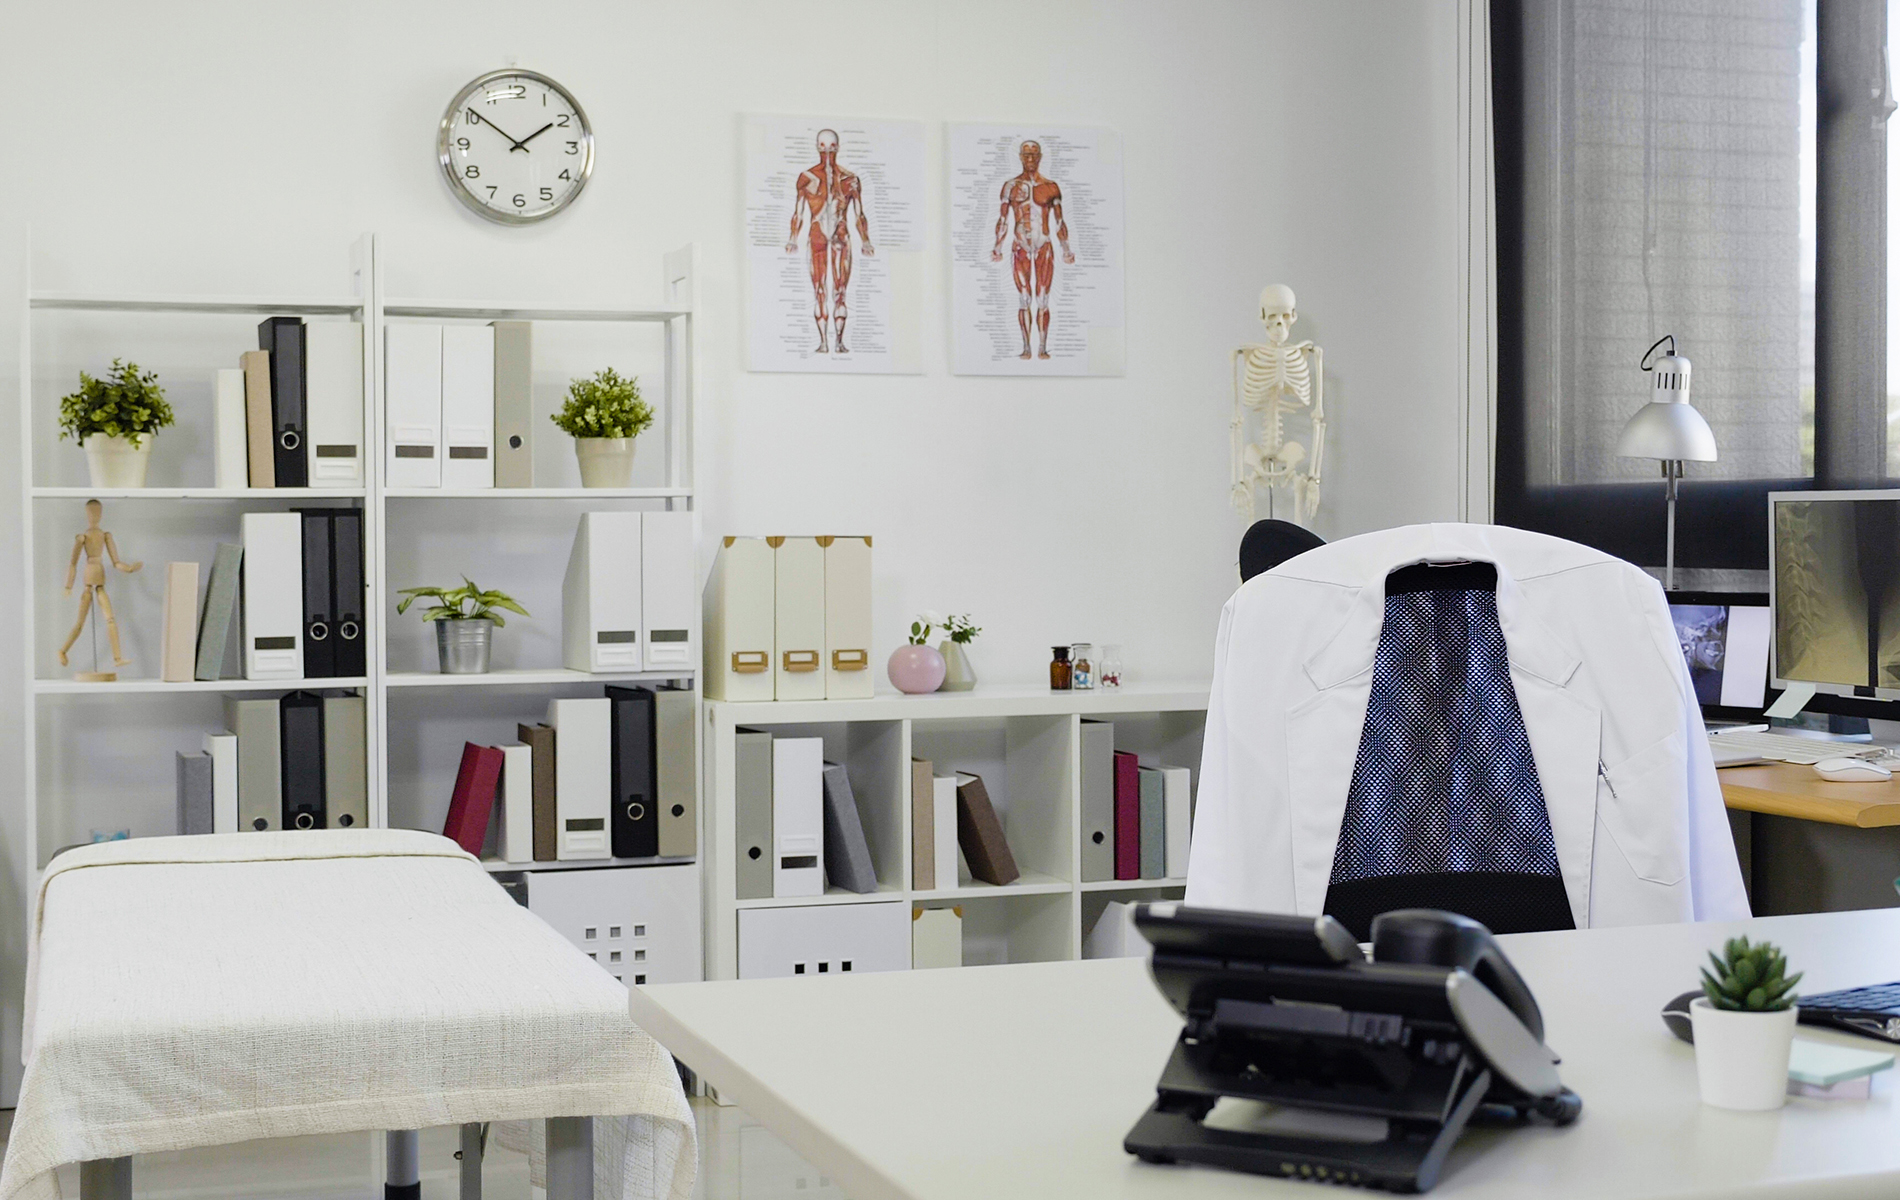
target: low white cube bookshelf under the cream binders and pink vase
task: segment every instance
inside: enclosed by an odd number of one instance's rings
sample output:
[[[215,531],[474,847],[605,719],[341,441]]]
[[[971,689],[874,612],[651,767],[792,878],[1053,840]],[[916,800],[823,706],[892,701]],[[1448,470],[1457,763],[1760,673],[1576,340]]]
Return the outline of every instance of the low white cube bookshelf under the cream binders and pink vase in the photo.
[[[1081,722],[1115,723],[1115,748],[1144,765],[1178,765],[1199,784],[1206,725],[1205,684],[1134,684],[1117,691],[1049,691],[978,685],[965,693],[880,693],[868,701],[705,704],[701,879],[707,911],[707,978],[739,970],[739,913],[817,904],[963,908],[963,961],[1034,963],[1081,957],[1112,900],[1178,898],[1186,879],[1081,883]],[[825,758],[851,775],[878,891],[823,896],[737,898],[737,729],[821,737]],[[960,879],[918,891],[910,873],[910,759],[935,773],[980,775],[1003,820],[1022,875],[1009,885]]]

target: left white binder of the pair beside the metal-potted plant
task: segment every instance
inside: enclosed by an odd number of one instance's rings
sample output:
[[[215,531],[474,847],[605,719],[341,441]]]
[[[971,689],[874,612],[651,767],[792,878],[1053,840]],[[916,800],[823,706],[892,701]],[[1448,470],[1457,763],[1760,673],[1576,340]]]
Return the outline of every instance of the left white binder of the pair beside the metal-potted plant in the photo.
[[[640,670],[640,513],[581,513],[560,583],[560,661]]]

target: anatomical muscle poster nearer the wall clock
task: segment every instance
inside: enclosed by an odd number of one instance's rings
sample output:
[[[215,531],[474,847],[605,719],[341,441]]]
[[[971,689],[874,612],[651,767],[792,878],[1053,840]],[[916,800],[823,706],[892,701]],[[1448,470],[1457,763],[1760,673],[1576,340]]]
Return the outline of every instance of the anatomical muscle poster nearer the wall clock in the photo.
[[[923,125],[745,118],[752,370],[923,370]]]

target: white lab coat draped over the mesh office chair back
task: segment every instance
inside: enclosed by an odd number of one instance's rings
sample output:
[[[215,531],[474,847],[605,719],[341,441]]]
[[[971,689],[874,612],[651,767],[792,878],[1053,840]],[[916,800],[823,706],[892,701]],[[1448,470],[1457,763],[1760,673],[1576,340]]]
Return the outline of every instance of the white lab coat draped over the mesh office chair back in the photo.
[[[1748,917],[1662,589],[1507,526],[1347,537],[1256,575],[1214,647],[1188,904],[1319,913],[1372,693],[1387,572],[1497,566],[1497,619],[1579,928]]]

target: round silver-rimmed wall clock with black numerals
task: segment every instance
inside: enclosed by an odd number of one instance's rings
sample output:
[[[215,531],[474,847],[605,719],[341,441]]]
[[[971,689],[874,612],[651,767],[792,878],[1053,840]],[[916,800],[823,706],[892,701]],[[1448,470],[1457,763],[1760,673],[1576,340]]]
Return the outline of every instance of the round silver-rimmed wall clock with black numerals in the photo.
[[[593,171],[593,131],[568,89],[532,70],[496,70],[462,89],[435,137],[448,188],[502,224],[564,209]]]

